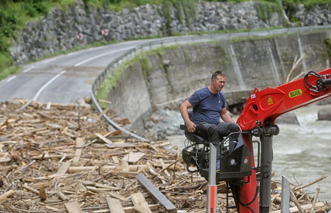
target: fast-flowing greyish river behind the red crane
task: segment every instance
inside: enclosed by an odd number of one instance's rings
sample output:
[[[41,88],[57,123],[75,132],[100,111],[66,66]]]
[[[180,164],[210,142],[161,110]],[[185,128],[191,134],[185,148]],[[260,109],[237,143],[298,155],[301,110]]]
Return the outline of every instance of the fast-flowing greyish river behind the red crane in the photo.
[[[320,185],[319,200],[331,202],[331,121],[317,121],[318,110],[329,107],[331,105],[310,104],[292,111],[300,125],[278,125],[279,135],[273,137],[272,171],[275,173],[273,179],[281,180],[284,175],[295,185],[305,185],[324,174],[328,175],[328,178],[304,190],[313,196],[317,185]],[[234,117],[234,121],[237,118]],[[173,145],[184,147],[184,133],[168,139]]]

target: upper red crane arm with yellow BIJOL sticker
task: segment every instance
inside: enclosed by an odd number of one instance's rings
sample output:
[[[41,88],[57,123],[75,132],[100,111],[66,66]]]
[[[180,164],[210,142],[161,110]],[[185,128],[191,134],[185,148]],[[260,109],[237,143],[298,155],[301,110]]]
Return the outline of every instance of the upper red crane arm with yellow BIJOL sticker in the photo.
[[[275,88],[267,87],[261,91],[255,88],[237,120],[241,129],[248,131],[255,126],[262,127],[266,121],[274,124],[275,119],[284,113],[331,96],[331,87],[324,90],[314,87],[320,83],[318,79],[326,79],[327,83],[331,83],[331,68],[316,74],[308,73],[303,78]]]

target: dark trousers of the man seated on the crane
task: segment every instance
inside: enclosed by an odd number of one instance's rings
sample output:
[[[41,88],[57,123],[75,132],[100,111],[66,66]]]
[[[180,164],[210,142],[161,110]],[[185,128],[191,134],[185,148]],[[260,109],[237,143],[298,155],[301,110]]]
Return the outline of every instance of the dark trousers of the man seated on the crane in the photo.
[[[220,141],[223,140],[223,137],[226,137],[233,132],[239,132],[239,127],[234,123],[200,123],[196,125],[196,131],[194,132],[194,134],[197,134],[204,138],[208,138],[209,143],[213,144],[216,148],[216,159],[220,160]]]

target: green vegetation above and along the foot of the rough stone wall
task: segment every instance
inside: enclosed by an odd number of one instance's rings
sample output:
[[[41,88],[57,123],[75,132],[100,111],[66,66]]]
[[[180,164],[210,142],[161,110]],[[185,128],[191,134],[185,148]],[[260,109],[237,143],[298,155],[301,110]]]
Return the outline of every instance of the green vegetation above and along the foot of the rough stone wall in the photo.
[[[60,10],[65,11],[69,8],[70,5],[77,3],[77,1],[78,0],[0,0],[0,79],[18,70],[18,67],[16,67],[14,60],[9,54],[9,48],[12,45],[12,41],[17,38],[18,32],[24,28],[26,23],[34,21],[35,19],[38,19],[39,17],[47,14],[53,7],[57,7]],[[162,9],[159,9],[159,13],[162,14],[165,20],[167,20],[167,29],[169,29],[172,22],[172,7],[176,9],[175,15],[178,17],[181,23],[184,23],[185,20],[187,25],[192,24],[195,21],[195,6],[198,1],[199,0],[83,0],[85,4],[85,10],[87,12],[89,11],[89,7],[91,6],[100,9],[104,8],[120,11],[124,8],[132,9],[146,4],[161,5]],[[206,1],[239,3],[248,0]],[[290,15],[290,13],[293,13],[294,11],[294,6],[299,3],[305,5],[305,7],[307,8],[311,8],[317,4],[330,4],[329,0],[260,0],[255,2],[257,2],[257,4],[255,4],[255,7],[258,11],[258,16],[262,20],[269,19],[271,16],[271,12],[281,13],[281,6],[286,10],[288,15]],[[217,31],[212,33],[227,32],[236,31]],[[171,32],[168,33],[171,34]],[[155,38],[155,36],[153,36],[153,38]],[[90,46],[98,46],[102,44],[108,43],[96,43]],[[71,51],[76,51],[82,48],[83,47],[78,47]],[[67,52],[69,51],[59,52],[50,56]]]

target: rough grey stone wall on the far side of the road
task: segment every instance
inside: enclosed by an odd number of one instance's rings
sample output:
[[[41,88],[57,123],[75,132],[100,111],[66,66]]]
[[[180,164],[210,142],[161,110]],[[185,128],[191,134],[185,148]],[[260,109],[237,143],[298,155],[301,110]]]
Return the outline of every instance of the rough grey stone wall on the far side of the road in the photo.
[[[183,1],[188,2],[188,1]],[[181,3],[184,4],[184,3]],[[122,41],[144,36],[211,32],[223,29],[256,29],[291,25],[286,15],[260,18],[255,2],[199,2],[195,5],[145,5],[120,12],[85,7],[82,0],[68,10],[53,9],[29,23],[10,49],[17,63],[25,63],[61,50],[93,42]],[[304,10],[293,15],[301,25],[331,24],[330,7]],[[283,13],[285,14],[285,13]],[[108,30],[107,35],[102,30]]]

